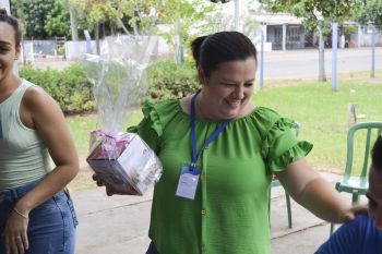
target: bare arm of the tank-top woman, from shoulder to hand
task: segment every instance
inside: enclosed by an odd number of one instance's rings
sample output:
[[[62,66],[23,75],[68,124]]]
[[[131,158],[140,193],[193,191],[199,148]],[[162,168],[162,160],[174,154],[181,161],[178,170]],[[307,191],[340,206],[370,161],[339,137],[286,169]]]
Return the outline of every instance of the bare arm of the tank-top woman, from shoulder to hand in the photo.
[[[49,95],[38,87],[28,88],[21,105],[20,117],[24,125],[37,130],[56,168],[15,204],[15,210],[11,213],[3,232],[8,253],[10,249],[12,253],[17,253],[15,235],[22,237],[23,247],[27,249],[26,229],[29,211],[60,192],[79,171],[76,149],[64,117]]]

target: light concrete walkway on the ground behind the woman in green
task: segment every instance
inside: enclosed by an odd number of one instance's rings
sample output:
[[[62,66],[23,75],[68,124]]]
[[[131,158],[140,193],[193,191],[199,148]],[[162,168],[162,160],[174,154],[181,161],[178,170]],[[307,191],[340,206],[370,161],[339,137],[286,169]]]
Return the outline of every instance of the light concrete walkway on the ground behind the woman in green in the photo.
[[[334,182],[338,176],[323,173]],[[347,198],[346,194],[344,194]],[[76,254],[144,254],[152,192],[143,197],[111,196],[103,188],[73,194],[80,226]],[[350,203],[350,199],[349,199]],[[271,199],[272,254],[311,254],[329,237],[330,226],[293,202],[288,229],[284,190],[274,188]]]

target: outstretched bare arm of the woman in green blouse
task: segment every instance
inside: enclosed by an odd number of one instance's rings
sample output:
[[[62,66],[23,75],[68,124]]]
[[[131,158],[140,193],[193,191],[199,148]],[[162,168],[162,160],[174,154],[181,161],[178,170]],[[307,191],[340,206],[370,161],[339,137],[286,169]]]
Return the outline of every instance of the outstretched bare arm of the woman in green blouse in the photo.
[[[290,162],[287,170],[275,174],[296,202],[324,220],[345,222],[366,209],[351,207],[305,158]]]

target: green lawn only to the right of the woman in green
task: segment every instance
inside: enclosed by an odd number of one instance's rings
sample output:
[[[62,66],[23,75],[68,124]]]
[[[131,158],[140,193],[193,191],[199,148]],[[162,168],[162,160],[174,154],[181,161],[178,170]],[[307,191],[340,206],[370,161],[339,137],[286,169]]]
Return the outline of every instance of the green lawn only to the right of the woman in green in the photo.
[[[345,167],[349,104],[357,105],[357,114],[366,114],[360,121],[382,121],[381,81],[339,82],[337,92],[331,83],[264,88],[253,101],[300,123],[300,138],[314,144],[308,158],[320,170],[342,172]]]

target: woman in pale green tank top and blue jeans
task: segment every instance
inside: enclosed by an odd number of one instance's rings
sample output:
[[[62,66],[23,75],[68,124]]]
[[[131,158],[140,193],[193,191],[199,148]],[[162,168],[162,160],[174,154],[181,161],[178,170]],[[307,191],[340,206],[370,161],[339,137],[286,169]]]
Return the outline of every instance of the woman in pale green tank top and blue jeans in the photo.
[[[63,190],[77,154],[58,104],[13,73],[20,49],[17,20],[0,10],[0,253],[72,254],[76,220]]]

